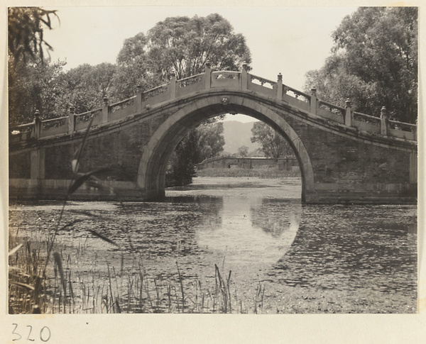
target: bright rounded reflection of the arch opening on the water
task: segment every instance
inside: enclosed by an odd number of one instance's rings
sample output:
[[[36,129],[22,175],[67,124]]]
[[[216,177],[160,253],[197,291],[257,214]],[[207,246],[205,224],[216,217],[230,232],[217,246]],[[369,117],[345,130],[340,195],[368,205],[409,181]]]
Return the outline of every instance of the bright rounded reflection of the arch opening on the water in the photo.
[[[213,214],[216,221],[206,213],[195,228],[200,248],[226,257],[233,267],[277,262],[295,238],[301,207],[289,203],[278,211],[264,202],[260,197],[223,197],[222,208]]]

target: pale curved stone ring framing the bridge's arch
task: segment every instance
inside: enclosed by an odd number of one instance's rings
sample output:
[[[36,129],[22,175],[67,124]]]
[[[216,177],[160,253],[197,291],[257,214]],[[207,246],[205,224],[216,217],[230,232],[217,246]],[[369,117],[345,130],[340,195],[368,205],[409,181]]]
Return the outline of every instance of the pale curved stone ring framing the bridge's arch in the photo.
[[[306,194],[313,190],[314,184],[312,164],[305,145],[293,128],[268,106],[241,96],[232,96],[231,102],[226,97],[218,99],[217,96],[192,101],[182,106],[160,125],[144,148],[138,168],[138,187],[144,190],[146,198],[162,199],[165,196],[165,172],[168,160],[180,140],[202,122],[224,113],[251,116],[283,135],[297,158],[302,179],[301,200],[305,203]]]

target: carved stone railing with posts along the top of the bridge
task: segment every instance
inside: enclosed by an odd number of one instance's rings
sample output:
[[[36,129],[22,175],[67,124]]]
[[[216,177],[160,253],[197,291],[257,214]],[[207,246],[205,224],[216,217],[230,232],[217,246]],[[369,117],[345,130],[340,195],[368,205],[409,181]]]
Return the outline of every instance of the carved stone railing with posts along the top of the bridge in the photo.
[[[109,104],[108,99],[104,98],[102,109],[95,109],[86,113],[76,114],[71,107],[68,116],[41,121],[40,113],[36,111],[33,123],[9,128],[9,140],[13,143],[21,140],[51,138],[58,135],[73,135],[76,132],[84,131],[91,118],[93,118],[92,126],[104,126],[108,123],[123,121],[127,116],[149,111],[167,101],[180,99],[197,91],[208,89],[251,91],[278,103],[284,102],[329,122],[356,128],[360,132],[405,140],[417,140],[417,126],[415,124],[388,120],[387,111],[384,108],[381,111],[381,116],[376,117],[352,111],[349,99],[346,100],[345,107],[329,104],[327,101],[317,99],[315,87],[312,87],[310,94],[307,94],[283,84],[281,74],[278,74],[276,82],[250,74],[247,72],[247,65],[245,64],[240,72],[212,72],[210,65],[207,64],[202,74],[180,80],[176,80],[175,75],[172,75],[168,84],[148,91],[141,91],[141,87],[138,87],[136,96],[115,104]]]

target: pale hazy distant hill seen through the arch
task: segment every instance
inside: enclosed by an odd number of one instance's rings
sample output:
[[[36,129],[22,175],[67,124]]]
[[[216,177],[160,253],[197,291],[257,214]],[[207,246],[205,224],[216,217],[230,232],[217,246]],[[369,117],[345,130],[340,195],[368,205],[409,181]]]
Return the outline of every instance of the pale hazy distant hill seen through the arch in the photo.
[[[235,154],[238,149],[246,145],[249,152],[260,148],[258,143],[251,143],[251,128],[253,123],[242,123],[239,121],[224,121],[224,153]]]

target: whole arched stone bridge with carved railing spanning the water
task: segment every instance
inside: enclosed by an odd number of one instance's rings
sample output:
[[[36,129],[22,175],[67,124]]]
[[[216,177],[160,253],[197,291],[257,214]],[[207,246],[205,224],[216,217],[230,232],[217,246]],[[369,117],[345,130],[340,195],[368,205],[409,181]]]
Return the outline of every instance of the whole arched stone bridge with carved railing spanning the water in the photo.
[[[290,143],[302,177],[304,203],[415,203],[417,127],[317,99],[278,81],[240,72],[176,80],[87,113],[9,128],[11,199],[62,199],[73,178],[71,160],[92,119],[80,171],[111,167],[74,199],[155,200],[165,195],[171,152],[192,128],[222,113],[267,123]],[[236,133],[238,135],[238,133]]]

